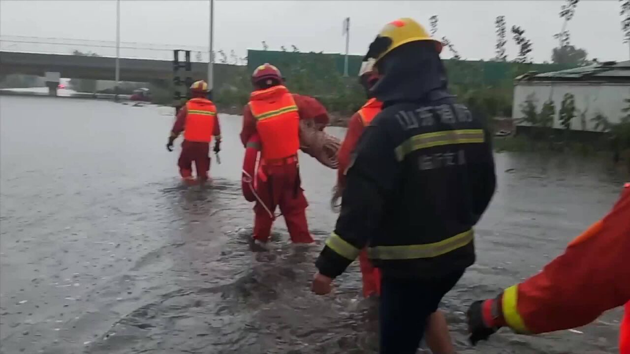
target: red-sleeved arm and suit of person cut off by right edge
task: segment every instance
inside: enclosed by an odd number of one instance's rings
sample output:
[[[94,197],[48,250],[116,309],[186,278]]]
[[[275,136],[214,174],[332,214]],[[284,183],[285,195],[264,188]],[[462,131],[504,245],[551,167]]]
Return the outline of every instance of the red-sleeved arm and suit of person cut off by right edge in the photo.
[[[584,326],[625,304],[619,353],[630,354],[630,183],[603,219],[540,273],[468,309],[473,345],[498,328],[538,334]]]

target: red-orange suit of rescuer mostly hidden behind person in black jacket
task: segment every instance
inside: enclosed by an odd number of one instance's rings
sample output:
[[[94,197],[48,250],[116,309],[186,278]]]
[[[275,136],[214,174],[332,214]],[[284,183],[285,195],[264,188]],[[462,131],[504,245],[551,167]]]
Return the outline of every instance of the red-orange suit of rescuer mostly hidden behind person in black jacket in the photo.
[[[374,117],[382,110],[382,106],[382,102],[372,98],[350,118],[346,137],[343,139],[343,143],[337,152],[337,159],[339,161],[339,168],[337,170],[338,188],[343,189],[345,186],[345,173],[350,164],[350,153],[357,145],[358,139],[365,127],[370,125],[370,122],[372,122]],[[381,272],[378,268],[374,268],[365,250],[359,254],[358,261],[361,269],[364,297],[369,297],[373,294],[380,295]]]

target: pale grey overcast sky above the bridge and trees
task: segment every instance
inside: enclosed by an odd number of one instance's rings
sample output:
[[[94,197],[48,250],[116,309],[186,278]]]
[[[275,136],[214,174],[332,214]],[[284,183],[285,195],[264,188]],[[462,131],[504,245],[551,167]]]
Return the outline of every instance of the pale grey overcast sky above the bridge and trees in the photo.
[[[271,50],[296,45],[302,52],[344,52],[343,18],[351,18],[350,54],[365,54],[382,26],[411,17],[428,27],[439,18],[438,37],[447,36],[464,58],[494,55],[495,18],[504,15],[508,28],[519,25],[532,40],[537,62],[549,60],[558,45],[553,38],[562,21],[564,1],[244,1],[215,0],[215,49],[244,56],[247,49]],[[599,60],[628,60],[622,43],[620,3],[582,0],[570,21],[571,43]],[[209,1],[122,0],[121,41],[207,47]],[[116,0],[0,0],[0,35],[89,40],[115,40]],[[6,49],[6,43],[3,48]],[[510,59],[517,54],[512,37]],[[444,57],[450,54],[445,52]]]

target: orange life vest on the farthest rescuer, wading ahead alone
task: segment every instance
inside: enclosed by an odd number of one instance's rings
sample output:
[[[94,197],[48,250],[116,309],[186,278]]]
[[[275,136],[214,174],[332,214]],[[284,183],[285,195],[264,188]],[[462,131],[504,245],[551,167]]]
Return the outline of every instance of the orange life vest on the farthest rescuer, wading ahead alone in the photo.
[[[196,142],[212,141],[217,107],[205,98],[193,98],[186,102],[184,139]]]

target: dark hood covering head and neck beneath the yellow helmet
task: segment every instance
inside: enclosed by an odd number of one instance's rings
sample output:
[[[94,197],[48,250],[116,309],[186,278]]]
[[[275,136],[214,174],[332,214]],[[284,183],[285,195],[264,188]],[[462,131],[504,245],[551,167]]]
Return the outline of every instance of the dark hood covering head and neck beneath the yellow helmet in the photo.
[[[401,45],[387,53],[376,65],[381,79],[370,89],[370,93],[386,106],[453,97],[447,91],[444,64],[431,41]]]

